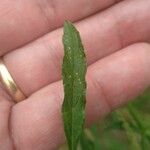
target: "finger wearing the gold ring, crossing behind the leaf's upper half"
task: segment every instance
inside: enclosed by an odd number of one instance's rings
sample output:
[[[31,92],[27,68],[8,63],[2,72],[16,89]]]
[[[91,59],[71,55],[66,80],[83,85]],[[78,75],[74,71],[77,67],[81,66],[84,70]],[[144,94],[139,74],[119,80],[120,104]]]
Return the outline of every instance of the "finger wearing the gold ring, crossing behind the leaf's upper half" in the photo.
[[[124,1],[78,24],[89,64],[128,44],[150,40],[149,2]],[[62,31],[57,30],[4,57],[9,71],[26,95],[60,79],[61,38]]]

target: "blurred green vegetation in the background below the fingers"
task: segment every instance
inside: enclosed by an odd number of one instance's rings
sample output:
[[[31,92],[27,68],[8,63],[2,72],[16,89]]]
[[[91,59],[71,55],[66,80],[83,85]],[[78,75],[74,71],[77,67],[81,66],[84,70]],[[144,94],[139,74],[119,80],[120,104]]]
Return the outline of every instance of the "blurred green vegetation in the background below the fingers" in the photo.
[[[150,89],[85,129],[78,149],[150,150]],[[67,146],[60,150],[67,150]]]

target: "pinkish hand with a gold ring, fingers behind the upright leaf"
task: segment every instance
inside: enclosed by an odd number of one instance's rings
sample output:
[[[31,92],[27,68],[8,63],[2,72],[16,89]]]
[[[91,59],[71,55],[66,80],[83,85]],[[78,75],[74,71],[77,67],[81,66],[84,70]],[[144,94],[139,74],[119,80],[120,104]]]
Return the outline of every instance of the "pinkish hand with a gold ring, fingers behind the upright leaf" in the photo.
[[[1,1],[0,55],[28,98],[14,104],[0,90],[0,149],[54,150],[64,142],[64,20],[76,22],[87,50],[87,124],[146,89],[149,10],[148,0]]]

